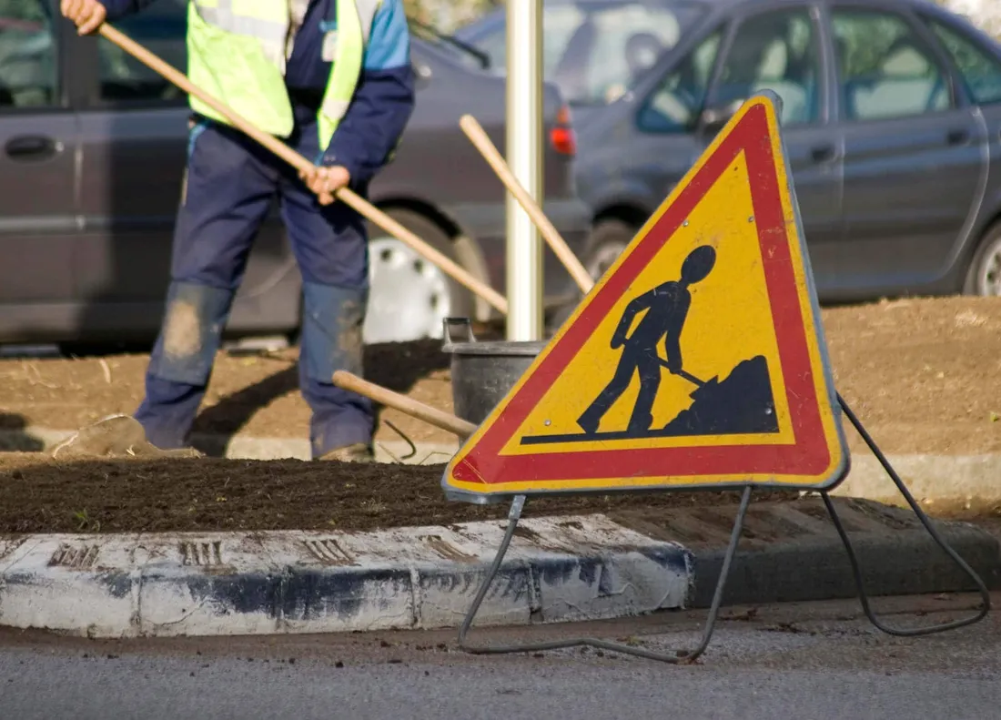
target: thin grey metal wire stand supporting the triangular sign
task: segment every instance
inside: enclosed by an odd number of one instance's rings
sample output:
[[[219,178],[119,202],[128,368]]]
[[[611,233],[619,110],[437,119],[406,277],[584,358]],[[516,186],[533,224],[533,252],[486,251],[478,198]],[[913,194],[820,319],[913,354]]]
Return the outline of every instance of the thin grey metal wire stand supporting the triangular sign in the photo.
[[[859,565],[858,557],[856,556],[855,550],[852,547],[852,543],[848,537],[848,533],[845,532],[845,527],[842,524],[841,519],[838,517],[838,512],[834,507],[834,503],[831,502],[831,497],[828,492],[822,492],[820,493],[821,499],[824,501],[824,506],[827,508],[827,512],[831,516],[831,522],[834,523],[834,528],[837,531],[838,536],[841,538],[841,542],[845,546],[845,552],[848,554],[848,560],[852,567],[852,575],[855,578],[855,584],[858,589],[859,602],[862,605],[862,610],[865,613],[866,617],[878,630],[888,635],[894,635],[897,637],[919,637],[923,635],[931,635],[933,633],[941,633],[946,630],[955,630],[957,628],[962,628],[967,625],[973,625],[974,623],[980,622],[987,616],[987,613],[990,612],[991,609],[990,591],[988,591],[987,586],[984,584],[984,581],[980,578],[979,575],[977,575],[976,571],[974,571],[973,568],[971,568],[970,565],[959,556],[959,554],[945,541],[945,539],[935,529],[935,526],[932,525],[931,520],[928,518],[927,515],[925,515],[925,512],[921,509],[921,506],[914,499],[914,496],[911,495],[910,491],[907,489],[907,486],[904,485],[903,481],[900,479],[900,476],[897,475],[897,472],[893,469],[893,466],[890,465],[890,462],[887,460],[886,456],[883,455],[883,452],[879,449],[879,447],[877,447],[875,441],[873,441],[872,437],[863,427],[861,421],[858,419],[855,413],[852,412],[852,410],[848,407],[848,404],[845,403],[844,399],[840,395],[838,396],[838,403],[841,406],[842,410],[845,412],[845,415],[848,417],[848,420],[851,422],[852,426],[855,428],[855,430],[861,436],[862,440],[865,442],[866,446],[868,446],[869,450],[872,451],[873,455],[876,456],[876,459],[879,461],[880,465],[883,466],[883,469],[886,471],[887,475],[890,476],[890,480],[893,481],[893,484],[897,486],[897,489],[900,491],[901,495],[904,496],[904,500],[907,501],[907,504],[910,506],[911,510],[914,511],[914,514],[918,517],[918,520],[921,521],[921,524],[924,526],[925,530],[928,531],[928,534],[932,537],[932,540],[934,540],[935,543],[940,548],[942,548],[943,551],[945,551],[946,555],[948,555],[949,558],[952,559],[952,561],[956,563],[956,565],[958,565],[963,570],[963,572],[966,573],[967,576],[969,576],[969,578],[977,586],[977,591],[980,593],[981,597],[980,608],[978,609],[977,613],[972,617],[962,618],[960,620],[954,620],[949,623],[942,623],[940,625],[932,625],[922,628],[893,628],[888,625],[885,625],[882,621],[879,620],[879,618],[876,617],[876,614],[873,612],[872,607],[870,606],[869,596],[866,594],[864,583],[862,580],[862,570]],[[507,555],[508,553],[508,548],[511,545],[511,541],[515,536],[515,531],[518,528],[518,523],[522,518],[522,512],[525,509],[525,503],[527,501],[527,498],[524,495],[516,496],[511,504],[511,510],[508,513],[507,532],[505,533],[504,540],[502,540],[500,542],[500,546],[497,548],[497,553],[496,556],[493,558],[493,563],[490,565],[489,571],[486,573],[486,577],[483,578],[483,582],[480,585],[479,590],[477,591],[476,596],[472,601],[472,605],[469,607],[469,610],[462,621],[462,625],[459,627],[458,646],[462,650],[468,653],[477,655],[542,652],[544,650],[559,650],[564,648],[586,646],[586,647],[599,648],[602,650],[609,650],[618,653],[624,653],[627,655],[634,655],[636,657],[646,658],[648,660],[657,660],[660,662],[665,662],[675,665],[694,662],[699,656],[701,656],[703,653],[706,652],[706,649],[709,647],[709,644],[713,638],[713,632],[716,629],[716,621],[720,613],[720,606],[723,603],[723,593],[726,590],[727,578],[730,575],[730,568],[731,565],[733,564],[734,556],[737,554],[737,546],[740,543],[741,533],[744,529],[744,519],[747,515],[748,506],[751,503],[751,493],[754,490],[754,487],[755,486],[748,485],[745,486],[741,491],[741,504],[737,510],[737,518],[734,521],[733,532],[731,533],[730,536],[730,544],[727,546],[727,553],[724,556],[723,568],[720,572],[720,579],[716,584],[716,592],[713,594],[713,602],[710,605],[709,617],[707,618],[705,628],[703,629],[702,641],[694,649],[678,650],[674,654],[655,653],[650,650],[630,647],[628,645],[622,645],[620,643],[612,643],[607,640],[600,640],[598,638],[571,638],[568,640],[554,640],[554,641],[539,642],[539,643],[524,643],[520,645],[476,646],[468,644],[466,642],[466,636],[468,635],[469,628],[472,625],[472,621],[479,610],[479,606],[482,603],[483,598],[486,596],[486,593],[489,590],[490,584],[493,582],[493,579],[496,576],[497,571],[500,569],[500,565],[504,563],[505,555]],[[790,490],[809,491],[811,489],[790,488]]]

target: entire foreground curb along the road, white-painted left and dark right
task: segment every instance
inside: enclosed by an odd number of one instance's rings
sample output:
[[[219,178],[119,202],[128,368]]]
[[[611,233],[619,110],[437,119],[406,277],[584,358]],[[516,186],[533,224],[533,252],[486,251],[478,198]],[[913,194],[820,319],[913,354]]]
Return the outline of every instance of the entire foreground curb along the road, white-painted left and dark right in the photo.
[[[870,595],[973,589],[913,515],[836,503]],[[707,607],[734,510],[679,508],[656,522],[643,513],[524,520],[477,625]],[[997,538],[967,523],[937,525],[991,588],[1001,587]],[[0,540],[0,625],[89,637],[454,628],[506,526],[8,538]],[[753,505],[743,538],[725,605],[856,594],[816,500]]]

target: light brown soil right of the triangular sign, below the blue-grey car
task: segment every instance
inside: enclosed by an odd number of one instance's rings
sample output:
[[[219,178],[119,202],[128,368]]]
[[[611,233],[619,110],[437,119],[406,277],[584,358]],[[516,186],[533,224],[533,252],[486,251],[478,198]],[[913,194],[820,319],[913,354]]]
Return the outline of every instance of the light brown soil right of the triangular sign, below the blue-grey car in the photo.
[[[837,388],[883,450],[1001,453],[1001,298],[839,307],[824,328]]]

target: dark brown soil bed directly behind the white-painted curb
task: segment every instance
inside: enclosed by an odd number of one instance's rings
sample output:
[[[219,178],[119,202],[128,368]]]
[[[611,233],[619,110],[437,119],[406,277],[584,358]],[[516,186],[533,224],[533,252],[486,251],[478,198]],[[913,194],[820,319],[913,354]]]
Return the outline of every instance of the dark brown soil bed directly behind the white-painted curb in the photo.
[[[442,470],[211,458],[59,463],[41,454],[4,454],[0,533],[372,530],[506,517],[507,505],[445,500]],[[735,492],[564,496],[530,501],[526,517],[739,500]]]

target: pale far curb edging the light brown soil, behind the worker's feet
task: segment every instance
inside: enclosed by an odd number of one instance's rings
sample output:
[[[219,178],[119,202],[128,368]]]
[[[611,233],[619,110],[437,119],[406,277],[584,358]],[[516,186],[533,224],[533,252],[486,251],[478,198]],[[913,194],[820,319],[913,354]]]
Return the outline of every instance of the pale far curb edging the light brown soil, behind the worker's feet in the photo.
[[[53,448],[74,431],[29,426],[23,430],[0,430],[0,451],[39,451]],[[198,448],[212,455],[240,460],[309,460],[309,442],[299,438],[250,438],[235,436],[195,436]],[[417,443],[410,448],[402,441],[378,442],[375,459],[382,463],[444,463],[458,449],[457,443]],[[891,455],[890,462],[914,497],[927,507],[959,508],[971,503],[1001,502],[1001,454],[994,455]],[[883,468],[868,454],[852,456],[848,478],[833,493],[836,496],[865,498],[890,505],[903,499],[886,477]]]

